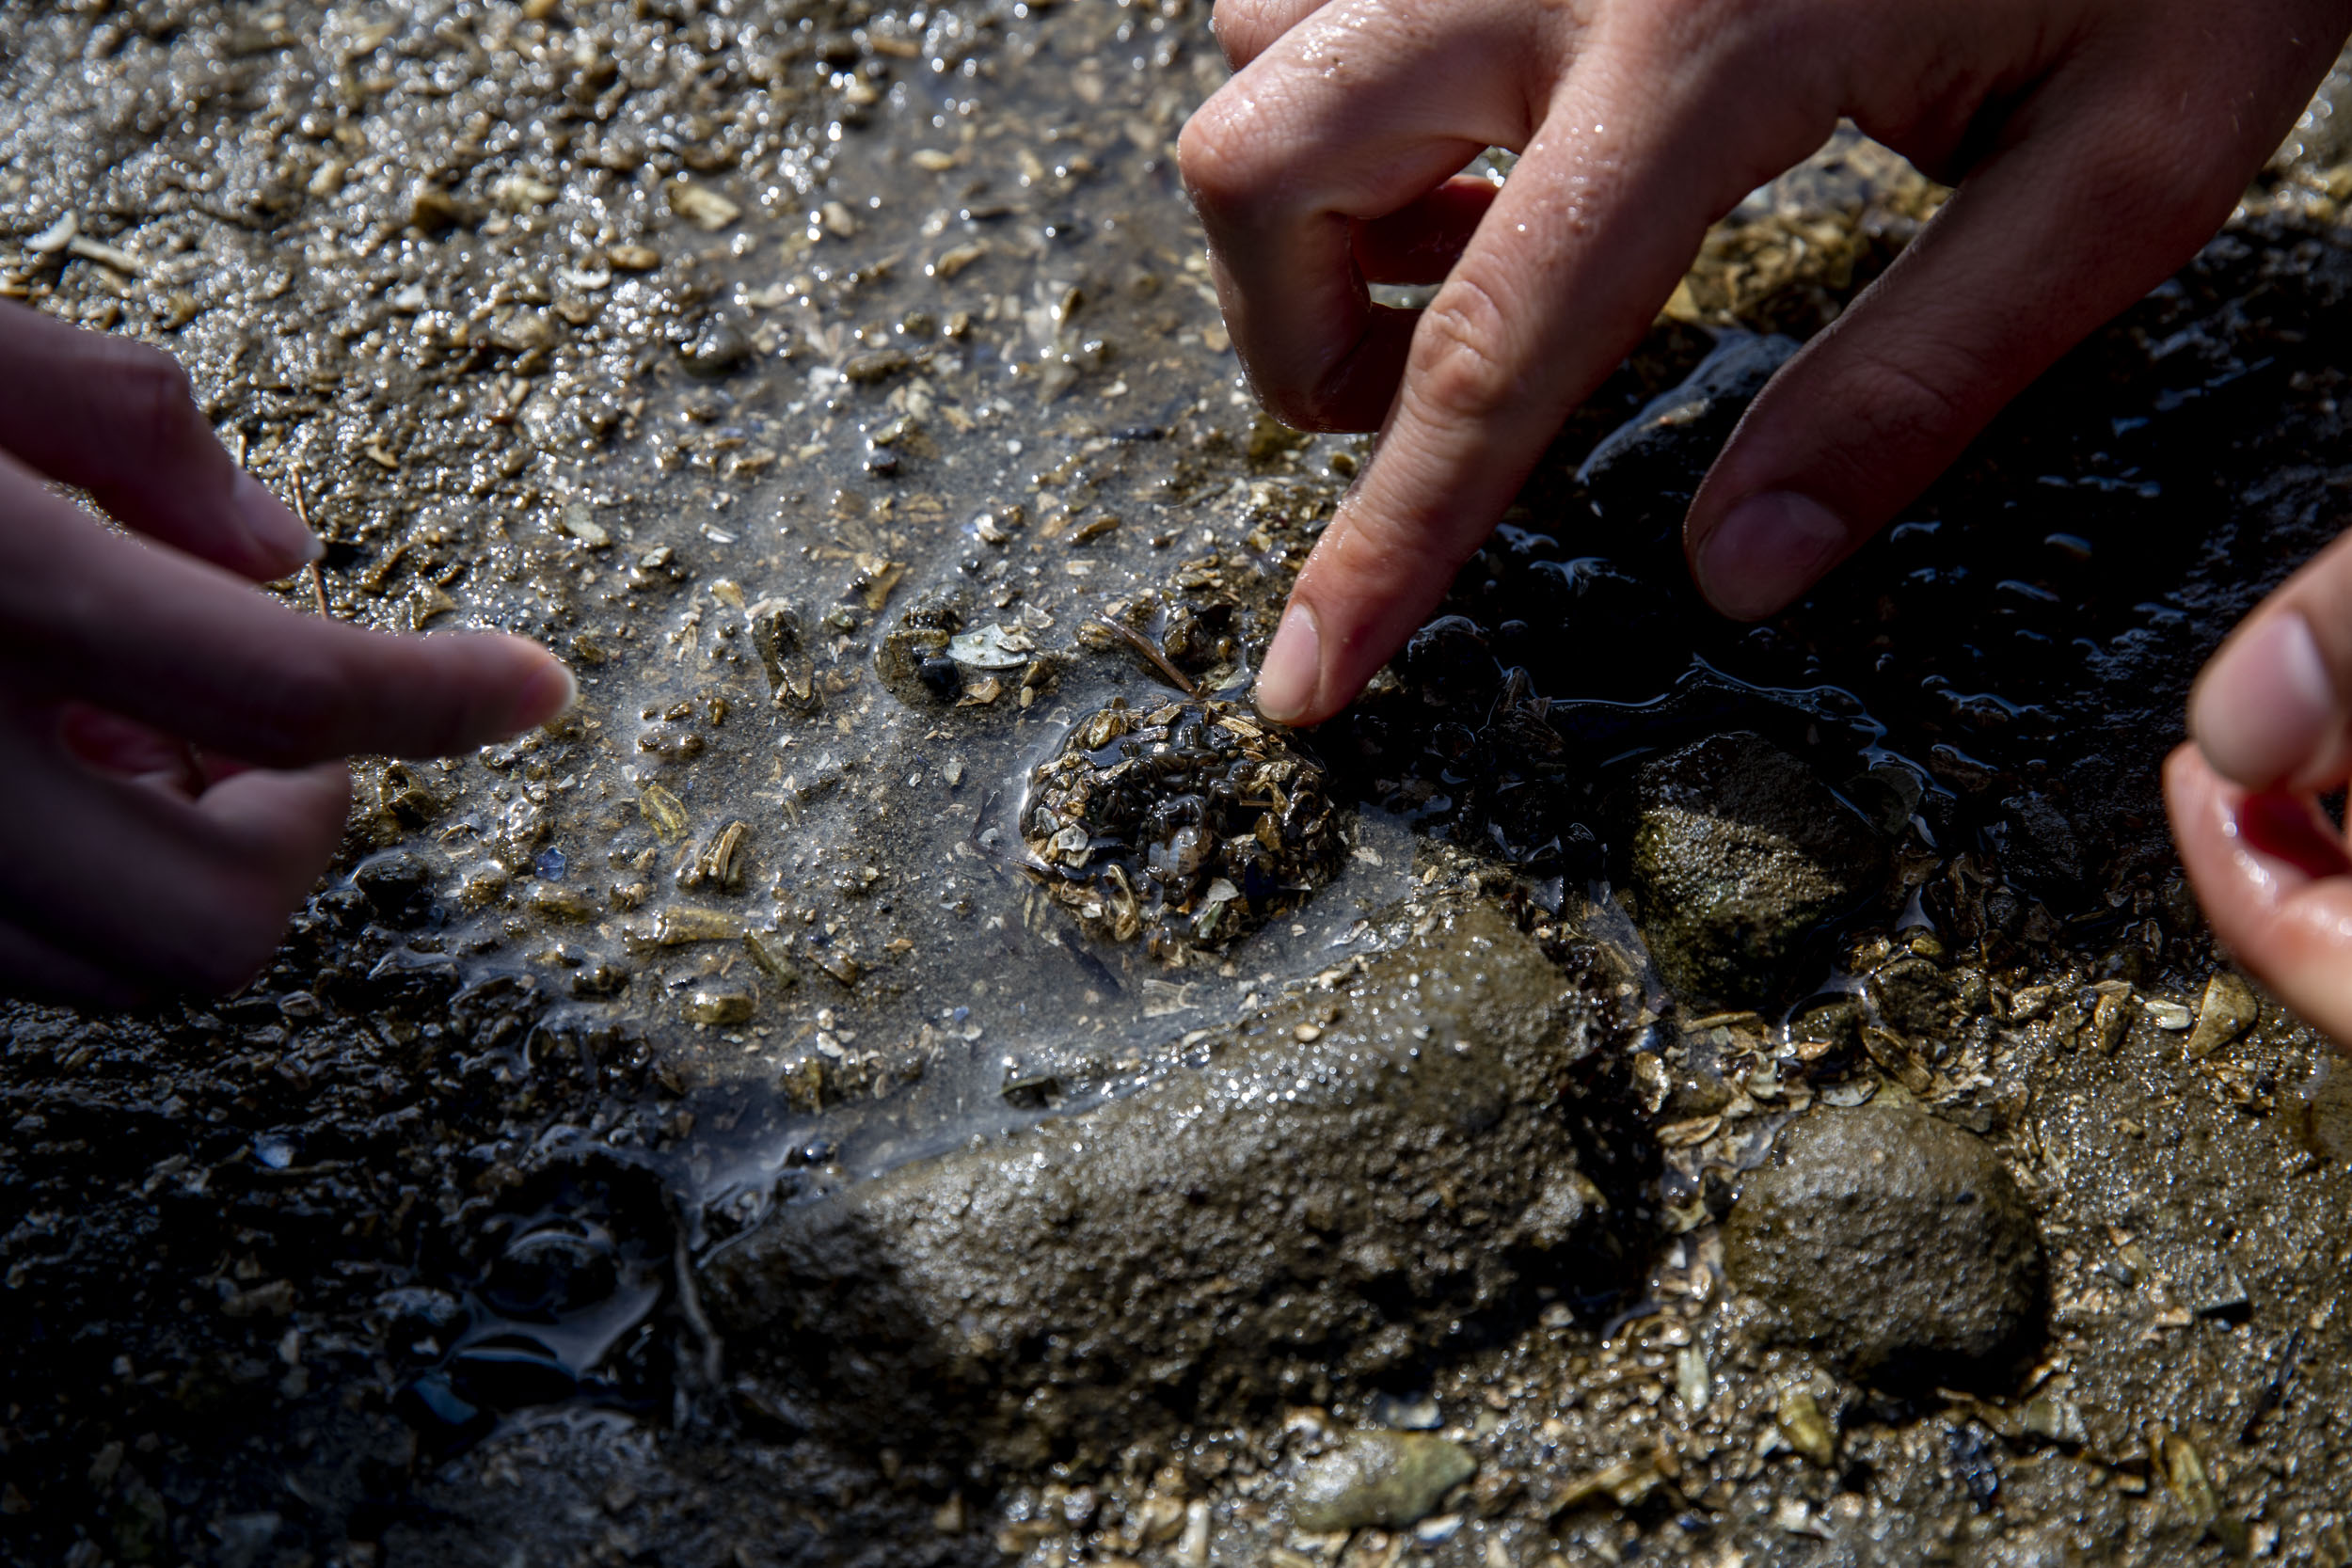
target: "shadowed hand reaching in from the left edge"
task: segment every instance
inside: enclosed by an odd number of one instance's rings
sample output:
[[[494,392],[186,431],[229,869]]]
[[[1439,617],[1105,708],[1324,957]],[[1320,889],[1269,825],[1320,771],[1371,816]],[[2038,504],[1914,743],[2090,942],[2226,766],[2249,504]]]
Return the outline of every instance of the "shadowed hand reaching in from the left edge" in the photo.
[[[466,750],[572,701],[520,637],[388,637],[252,590],[318,552],[172,357],[0,306],[0,987],[235,987],[334,856],[341,757]]]

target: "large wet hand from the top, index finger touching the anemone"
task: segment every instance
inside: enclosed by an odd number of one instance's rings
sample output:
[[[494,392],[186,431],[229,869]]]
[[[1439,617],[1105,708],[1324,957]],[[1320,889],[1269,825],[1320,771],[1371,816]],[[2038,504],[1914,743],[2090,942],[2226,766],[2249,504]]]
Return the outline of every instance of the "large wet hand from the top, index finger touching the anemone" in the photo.
[[[1839,115],[1959,190],[1780,369],[1691,505],[1724,614],[1844,559],[2230,216],[2347,0],[1218,0],[1181,162],[1258,395],[1381,428],[1258,675],[1343,708],[1639,343],[1708,223]],[[1501,190],[1449,179],[1519,148]],[[1423,313],[1367,282],[1439,282]]]

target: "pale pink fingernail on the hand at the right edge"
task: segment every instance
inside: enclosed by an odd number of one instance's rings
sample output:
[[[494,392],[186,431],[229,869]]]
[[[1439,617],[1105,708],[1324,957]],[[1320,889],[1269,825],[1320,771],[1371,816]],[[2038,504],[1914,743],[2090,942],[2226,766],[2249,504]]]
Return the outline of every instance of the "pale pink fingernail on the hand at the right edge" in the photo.
[[[2190,733],[2223,778],[2293,778],[2338,724],[2336,684],[2310,623],[2286,609],[2220,651],[2190,703]]]

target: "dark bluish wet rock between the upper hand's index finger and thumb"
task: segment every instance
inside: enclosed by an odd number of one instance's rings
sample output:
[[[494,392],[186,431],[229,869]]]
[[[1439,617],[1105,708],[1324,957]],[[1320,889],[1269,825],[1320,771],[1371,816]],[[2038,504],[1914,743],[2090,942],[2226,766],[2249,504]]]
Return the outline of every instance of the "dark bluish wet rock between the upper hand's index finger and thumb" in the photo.
[[[1682,386],[1653,397],[1602,440],[1576,477],[1611,534],[1679,534],[1698,480],[1755,395],[1795,353],[1795,339],[1726,331]]]

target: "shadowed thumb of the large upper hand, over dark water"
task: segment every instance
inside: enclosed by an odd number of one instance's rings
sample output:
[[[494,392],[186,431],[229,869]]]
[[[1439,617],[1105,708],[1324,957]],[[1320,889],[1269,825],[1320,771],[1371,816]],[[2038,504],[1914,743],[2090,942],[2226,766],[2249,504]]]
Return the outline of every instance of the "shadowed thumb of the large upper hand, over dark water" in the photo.
[[[1811,588],[2230,216],[2260,150],[2218,155],[2211,127],[2166,122],[2140,82],[2063,78],[1748,409],[1684,524],[1722,614],[1755,621]],[[2267,148],[2265,129],[2241,139]]]

